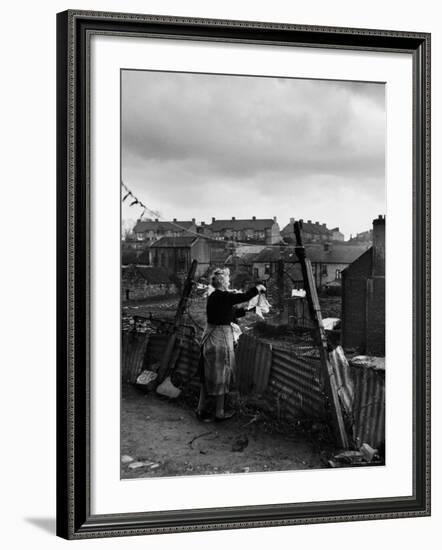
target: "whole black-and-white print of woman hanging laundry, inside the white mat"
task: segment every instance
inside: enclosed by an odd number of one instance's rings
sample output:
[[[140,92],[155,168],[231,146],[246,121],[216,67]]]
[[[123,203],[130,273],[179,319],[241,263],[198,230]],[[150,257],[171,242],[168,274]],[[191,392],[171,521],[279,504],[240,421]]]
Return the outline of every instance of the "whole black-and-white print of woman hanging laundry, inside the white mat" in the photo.
[[[121,479],[388,463],[385,85],[120,78]]]

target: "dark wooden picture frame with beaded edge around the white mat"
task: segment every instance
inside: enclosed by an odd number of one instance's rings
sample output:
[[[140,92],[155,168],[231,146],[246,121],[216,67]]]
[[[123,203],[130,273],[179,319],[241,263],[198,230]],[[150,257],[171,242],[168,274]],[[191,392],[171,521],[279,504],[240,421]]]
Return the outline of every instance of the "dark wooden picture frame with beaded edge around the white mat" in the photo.
[[[92,34],[413,56],[414,490],[411,497],[90,513],[89,39]],[[57,534],[68,539],[430,514],[430,35],[70,10],[57,16]],[[411,220],[410,220],[411,223]],[[411,243],[410,243],[411,244]]]

